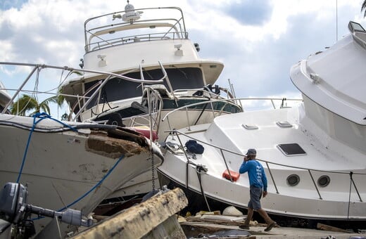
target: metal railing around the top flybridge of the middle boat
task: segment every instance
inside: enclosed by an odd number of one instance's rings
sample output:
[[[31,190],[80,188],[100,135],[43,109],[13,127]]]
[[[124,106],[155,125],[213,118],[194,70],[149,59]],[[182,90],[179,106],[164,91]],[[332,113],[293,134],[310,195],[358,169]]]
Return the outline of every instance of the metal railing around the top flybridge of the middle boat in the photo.
[[[141,28],[153,33],[139,34]],[[158,29],[164,30],[159,32]],[[111,39],[112,34],[134,30],[136,34],[129,37]],[[89,18],[84,22],[84,35],[86,52],[137,41],[188,39],[182,9],[177,7],[130,9]]]

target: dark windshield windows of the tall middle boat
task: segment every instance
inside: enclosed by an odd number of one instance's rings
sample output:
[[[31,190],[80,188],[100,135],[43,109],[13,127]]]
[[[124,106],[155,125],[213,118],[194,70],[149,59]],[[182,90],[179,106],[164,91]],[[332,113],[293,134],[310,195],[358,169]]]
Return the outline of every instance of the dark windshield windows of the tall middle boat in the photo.
[[[173,90],[175,89],[197,89],[204,86],[203,75],[200,68],[185,67],[185,68],[168,68],[165,69],[170,79],[170,84]],[[134,79],[141,79],[140,72],[130,72],[126,75]],[[160,79],[163,77],[163,72],[160,69],[144,71],[144,79]],[[95,82],[85,83],[85,91],[90,89]],[[169,90],[168,84],[163,83]],[[92,96],[94,91],[90,92],[88,96]],[[124,79],[113,78],[110,79],[105,86],[103,86],[99,103],[108,103],[111,101],[119,101],[126,98],[133,98],[141,96],[142,89],[139,83],[129,82]],[[90,103],[87,108],[92,108],[96,104],[96,99]]]

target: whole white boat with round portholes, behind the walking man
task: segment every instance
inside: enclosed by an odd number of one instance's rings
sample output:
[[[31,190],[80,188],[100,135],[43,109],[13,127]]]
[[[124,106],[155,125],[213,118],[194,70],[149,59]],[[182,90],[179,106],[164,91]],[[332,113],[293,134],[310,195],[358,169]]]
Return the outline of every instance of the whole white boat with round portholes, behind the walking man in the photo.
[[[204,198],[246,208],[248,148],[265,167],[271,214],[305,219],[366,220],[366,31],[350,22],[334,46],[291,67],[303,102],[295,107],[239,112],[212,124],[171,131],[163,179]],[[202,154],[184,144],[195,139]],[[209,205],[208,205],[209,208]]]

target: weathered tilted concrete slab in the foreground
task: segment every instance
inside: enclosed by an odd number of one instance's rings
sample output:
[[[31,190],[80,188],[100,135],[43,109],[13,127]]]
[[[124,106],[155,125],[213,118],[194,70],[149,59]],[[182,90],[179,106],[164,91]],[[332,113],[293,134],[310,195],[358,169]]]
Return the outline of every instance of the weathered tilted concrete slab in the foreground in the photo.
[[[166,193],[122,210],[72,238],[187,238],[177,220],[177,212],[187,207],[182,189]]]

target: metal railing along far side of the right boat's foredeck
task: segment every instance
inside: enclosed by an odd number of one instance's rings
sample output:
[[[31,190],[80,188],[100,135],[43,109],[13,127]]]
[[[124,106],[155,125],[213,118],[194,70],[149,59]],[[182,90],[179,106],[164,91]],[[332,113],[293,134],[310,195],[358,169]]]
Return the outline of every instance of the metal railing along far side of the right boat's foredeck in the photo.
[[[179,92],[179,91],[176,91]],[[176,112],[182,112],[182,110],[185,110],[186,112],[186,119],[187,120],[187,127],[188,130],[191,130],[191,126],[193,126],[194,124],[191,124],[191,118],[189,117],[189,108],[193,108],[194,106],[197,105],[207,105],[210,104],[210,108],[205,108],[206,111],[210,110],[210,112],[212,112],[213,114],[213,118],[222,115],[222,113],[224,112],[225,106],[226,105],[236,105],[236,107],[241,108],[244,111],[244,108],[242,107],[241,103],[245,103],[245,101],[269,101],[272,105],[273,109],[276,109],[277,107],[279,108],[287,108],[288,106],[286,106],[286,101],[296,101],[296,102],[301,102],[303,101],[302,99],[298,99],[298,98],[215,98],[212,100],[208,100],[208,101],[202,101],[202,102],[198,102],[198,103],[191,103],[189,105],[184,105],[182,107],[176,108],[174,110],[171,110],[170,112],[168,112],[162,119],[162,121],[167,120],[168,121],[168,125],[170,127],[170,130],[174,129],[175,127],[171,127],[170,123],[169,123],[169,117],[173,114],[175,114]],[[275,101],[280,101],[281,104],[279,106],[276,106],[276,104],[274,103]],[[215,108],[213,107],[214,103],[217,102],[221,102],[221,103],[225,103],[221,110],[215,110]],[[237,102],[240,102],[240,106]]]

